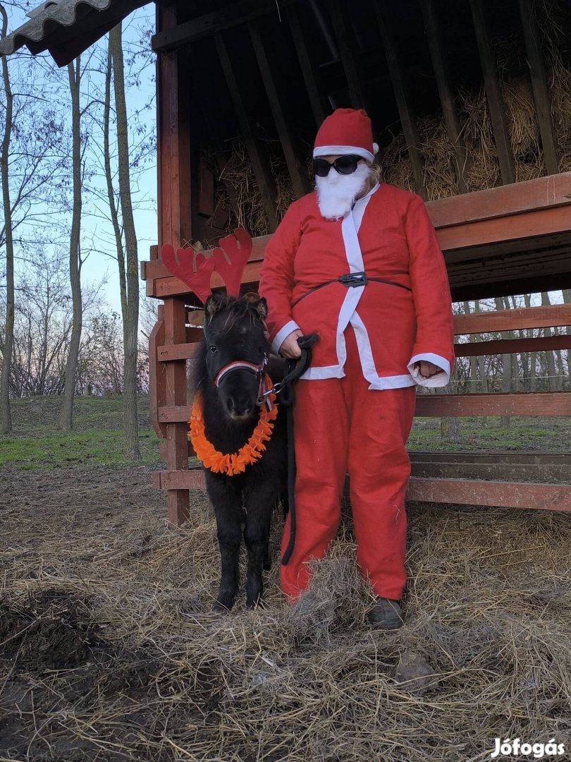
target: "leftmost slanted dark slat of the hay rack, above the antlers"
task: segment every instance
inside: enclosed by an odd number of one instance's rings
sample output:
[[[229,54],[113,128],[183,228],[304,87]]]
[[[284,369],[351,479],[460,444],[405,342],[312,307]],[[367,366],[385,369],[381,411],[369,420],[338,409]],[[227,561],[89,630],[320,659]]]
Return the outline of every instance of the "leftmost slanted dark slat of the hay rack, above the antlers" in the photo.
[[[267,158],[266,152],[258,145],[254,133],[254,123],[247,106],[242,97],[240,88],[238,87],[238,80],[236,79],[235,70],[239,67],[234,66],[228,56],[228,50],[226,48],[222,34],[215,34],[214,37],[216,50],[219,53],[219,59],[222,64],[222,70],[226,78],[226,84],[230,91],[230,97],[234,104],[234,110],[238,117],[238,123],[240,124],[240,130],[242,138],[247,147],[248,155],[250,156],[250,162],[252,162],[252,168],[256,177],[256,182],[260,189],[262,196],[263,208],[266,212],[270,228],[275,230],[278,225],[278,219],[276,216],[276,184],[273,180],[273,175],[270,170],[270,162]]]

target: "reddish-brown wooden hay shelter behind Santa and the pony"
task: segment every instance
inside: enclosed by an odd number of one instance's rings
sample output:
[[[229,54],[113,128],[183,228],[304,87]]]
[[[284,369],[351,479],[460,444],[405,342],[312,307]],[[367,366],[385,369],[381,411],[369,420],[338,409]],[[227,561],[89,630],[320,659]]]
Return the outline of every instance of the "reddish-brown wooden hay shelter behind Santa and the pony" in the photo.
[[[152,424],[164,439],[167,463],[155,474],[155,486],[167,491],[171,522],[185,520],[189,489],[203,486],[202,472],[188,467],[187,442],[187,360],[199,338],[192,309],[199,303],[168,274],[158,251],[164,243],[213,242],[239,216],[236,187],[225,177],[232,141],[240,139],[247,151],[270,235],[283,211],[276,161],[290,196],[306,193],[307,158],[321,120],[334,107],[365,107],[381,152],[394,134],[402,136],[413,185],[427,200],[445,254],[453,299],[571,288],[571,172],[561,171],[571,150],[561,150],[553,121],[545,8],[555,13],[556,0],[157,2],[158,246],[142,263],[142,278],[148,296],[164,301],[149,357]],[[515,150],[502,94],[502,40],[531,93],[538,142],[524,152]],[[474,139],[469,145],[458,110],[463,90],[485,93],[486,161],[497,170],[496,187],[476,192],[470,192]],[[568,98],[571,104],[571,91]],[[442,198],[430,197],[418,129],[419,117],[435,113],[442,117],[454,175],[453,192]],[[516,182],[526,176],[522,166],[533,163],[539,176]],[[254,239],[247,290],[256,286],[269,235]],[[222,281],[214,276],[212,285],[222,287]],[[461,315],[456,333],[569,324],[571,305],[562,304]],[[571,349],[569,331],[459,343],[457,354],[557,348]],[[419,395],[417,413],[571,415],[571,395]],[[570,465],[568,453],[416,453],[408,498],[571,511],[571,485],[544,479],[547,468],[553,475]]]

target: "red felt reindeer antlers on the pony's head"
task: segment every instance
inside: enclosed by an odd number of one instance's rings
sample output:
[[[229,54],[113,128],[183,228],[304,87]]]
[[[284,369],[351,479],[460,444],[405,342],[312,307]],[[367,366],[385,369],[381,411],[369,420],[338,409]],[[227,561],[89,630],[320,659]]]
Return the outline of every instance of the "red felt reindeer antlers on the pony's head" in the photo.
[[[224,280],[228,296],[240,296],[240,283],[251,251],[250,235],[243,228],[237,228],[233,235],[220,239],[212,256],[205,256],[192,247],[174,251],[170,244],[164,244],[161,258],[167,271],[186,283],[204,303],[211,293],[213,270]]]

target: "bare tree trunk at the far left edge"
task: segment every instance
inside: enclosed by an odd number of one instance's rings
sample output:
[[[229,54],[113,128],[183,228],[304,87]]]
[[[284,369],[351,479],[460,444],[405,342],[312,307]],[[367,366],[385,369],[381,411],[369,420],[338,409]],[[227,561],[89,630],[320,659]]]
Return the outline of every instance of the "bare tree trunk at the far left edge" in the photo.
[[[0,5],[2,14],[2,34],[6,37],[8,30],[8,15],[3,5]],[[2,174],[2,203],[4,205],[4,224],[6,236],[6,316],[4,327],[4,343],[2,346],[2,378],[0,378],[0,433],[9,434],[12,430],[10,411],[10,374],[12,369],[12,352],[14,351],[14,239],[12,238],[12,213],[10,202],[10,187],[8,185],[8,154],[10,151],[10,138],[12,133],[12,118],[14,108],[14,96],[10,87],[8,75],[8,62],[6,56],[2,56],[2,79],[4,82],[4,94],[6,98],[6,123],[2,138],[2,155],[0,155],[0,168]]]

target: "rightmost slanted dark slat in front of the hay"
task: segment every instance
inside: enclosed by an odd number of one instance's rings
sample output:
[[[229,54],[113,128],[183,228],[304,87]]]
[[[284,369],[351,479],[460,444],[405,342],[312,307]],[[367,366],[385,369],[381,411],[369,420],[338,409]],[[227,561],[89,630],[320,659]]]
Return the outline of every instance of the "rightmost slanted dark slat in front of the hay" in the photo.
[[[547,76],[540,50],[541,33],[535,16],[534,0],[519,0],[519,14],[522,18],[525,52],[531,75],[535,111],[538,115],[541,146],[544,149],[545,166],[548,174],[556,174],[559,171],[559,157],[553,131]]]

